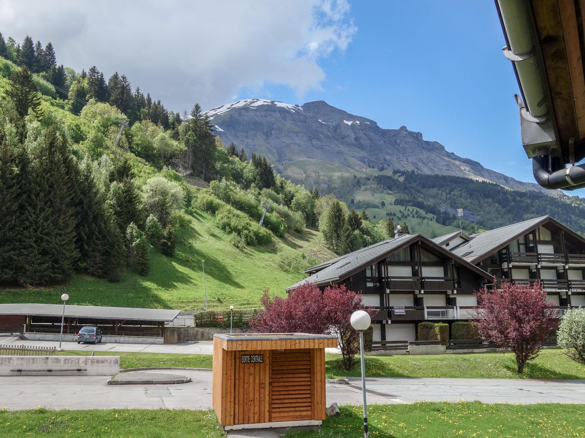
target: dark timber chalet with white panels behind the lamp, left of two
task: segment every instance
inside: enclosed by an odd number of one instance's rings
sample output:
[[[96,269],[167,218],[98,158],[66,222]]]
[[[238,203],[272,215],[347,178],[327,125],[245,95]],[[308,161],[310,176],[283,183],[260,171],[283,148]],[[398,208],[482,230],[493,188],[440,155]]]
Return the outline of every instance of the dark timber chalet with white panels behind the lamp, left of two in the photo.
[[[398,235],[305,270],[311,275],[287,291],[307,281],[322,288],[345,284],[378,310],[373,340],[417,340],[418,322],[471,318],[473,292],[491,282],[481,266],[451,252],[450,242],[457,237],[439,244],[420,234]]]

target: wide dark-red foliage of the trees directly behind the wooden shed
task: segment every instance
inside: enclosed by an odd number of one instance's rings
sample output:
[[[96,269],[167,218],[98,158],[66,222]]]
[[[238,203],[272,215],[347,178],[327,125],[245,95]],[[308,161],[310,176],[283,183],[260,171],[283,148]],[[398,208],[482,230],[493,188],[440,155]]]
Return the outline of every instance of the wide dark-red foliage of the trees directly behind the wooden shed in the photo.
[[[335,335],[342,354],[342,366],[346,370],[352,369],[355,355],[359,352],[359,333],[349,322],[352,313],[365,310],[374,315],[377,312],[371,307],[364,307],[360,294],[338,284],[321,291],[315,284],[304,283],[286,298],[271,298],[266,290],[260,303],[264,311],[250,321],[254,331]]]

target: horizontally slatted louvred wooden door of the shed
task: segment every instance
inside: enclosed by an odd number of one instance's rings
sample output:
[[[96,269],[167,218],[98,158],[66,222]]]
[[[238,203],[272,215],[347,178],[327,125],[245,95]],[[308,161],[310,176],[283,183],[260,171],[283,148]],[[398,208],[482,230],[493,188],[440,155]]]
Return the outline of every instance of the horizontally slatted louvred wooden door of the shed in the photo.
[[[311,351],[272,352],[270,421],[311,419]]]

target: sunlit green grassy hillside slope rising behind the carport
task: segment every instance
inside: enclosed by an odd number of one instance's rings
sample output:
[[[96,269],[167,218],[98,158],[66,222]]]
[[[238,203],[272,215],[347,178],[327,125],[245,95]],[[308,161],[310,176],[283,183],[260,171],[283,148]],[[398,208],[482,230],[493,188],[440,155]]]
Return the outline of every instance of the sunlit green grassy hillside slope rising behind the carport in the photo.
[[[264,289],[284,295],[286,287],[306,277],[302,269],[287,268],[287,260],[301,252],[319,260],[335,257],[321,234],[308,229],[275,238],[271,245],[240,250],[215,226],[214,215],[195,211],[190,226],[180,232],[176,255],[168,258],[151,251],[151,269],[145,277],[128,273],[119,283],[110,283],[75,275],[67,286],[0,289],[0,303],[60,304],[66,292],[67,304],[204,310],[201,260],[205,260],[210,309],[225,310],[232,304],[258,307]]]

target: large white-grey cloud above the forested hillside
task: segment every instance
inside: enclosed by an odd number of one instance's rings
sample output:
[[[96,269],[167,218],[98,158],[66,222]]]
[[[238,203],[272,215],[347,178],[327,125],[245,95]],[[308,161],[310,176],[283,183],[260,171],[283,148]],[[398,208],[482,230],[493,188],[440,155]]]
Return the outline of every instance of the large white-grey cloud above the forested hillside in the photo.
[[[301,98],[320,89],[318,61],[344,51],[356,27],[346,0],[5,0],[0,31],[51,41],[57,60],[125,74],[170,109],[204,109],[266,84]],[[263,96],[259,96],[263,97]]]

